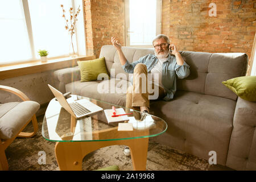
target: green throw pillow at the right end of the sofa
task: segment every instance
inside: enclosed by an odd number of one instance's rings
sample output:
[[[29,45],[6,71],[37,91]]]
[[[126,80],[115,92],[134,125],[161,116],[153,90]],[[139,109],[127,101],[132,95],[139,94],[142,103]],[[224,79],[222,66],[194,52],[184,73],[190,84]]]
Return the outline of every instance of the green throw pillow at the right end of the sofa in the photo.
[[[222,81],[226,87],[232,90],[243,100],[256,102],[256,76],[241,76]]]

